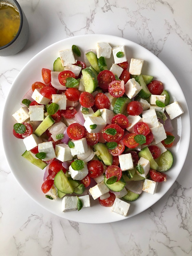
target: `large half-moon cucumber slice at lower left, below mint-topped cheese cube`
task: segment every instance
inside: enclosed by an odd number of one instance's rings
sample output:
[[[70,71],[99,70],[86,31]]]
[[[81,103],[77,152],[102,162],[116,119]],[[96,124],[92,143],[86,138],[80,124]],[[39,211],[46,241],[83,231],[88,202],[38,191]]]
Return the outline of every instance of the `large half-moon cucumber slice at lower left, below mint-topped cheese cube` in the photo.
[[[66,175],[62,170],[56,174],[54,184],[56,188],[62,193],[72,194],[74,192],[73,187],[71,186],[70,182],[68,181]]]

